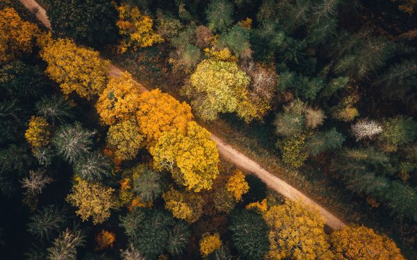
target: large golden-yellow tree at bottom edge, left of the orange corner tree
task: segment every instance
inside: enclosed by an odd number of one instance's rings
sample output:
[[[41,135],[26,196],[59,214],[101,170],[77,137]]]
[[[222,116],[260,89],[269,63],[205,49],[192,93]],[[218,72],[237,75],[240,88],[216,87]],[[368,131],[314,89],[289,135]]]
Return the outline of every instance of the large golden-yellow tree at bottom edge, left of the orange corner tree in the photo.
[[[264,218],[270,228],[266,259],[332,259],[319,211],[287,200],[284,205],[272,206]]]

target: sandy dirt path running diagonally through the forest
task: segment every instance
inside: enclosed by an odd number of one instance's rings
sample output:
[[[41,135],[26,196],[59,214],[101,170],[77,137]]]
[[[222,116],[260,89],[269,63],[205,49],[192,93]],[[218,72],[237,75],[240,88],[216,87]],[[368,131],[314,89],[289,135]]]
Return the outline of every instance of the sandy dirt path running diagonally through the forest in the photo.
[[[39,19],[39,21],[44,24],[49,30],[51,29],[51,23],[49,22],[49,19],[47,17],[47,12],[42,8],[36,1],[34,0],[19,0],[28,10],[33,12],[35,14],[36,18]],[[113,64],[111,64],[110,69],[110,75],[111,76],[120,76],[120,73],[122,73],[122,70],[115,67]],[[146,89],[145,86],[142,84],[136,82],[140,89],[142,91],[146,92],[149,91]],[[257,177],[259,177],[265,184],[268,185],[270,189],[273,189],[277,191],[277,193],[280,193],[282,196],[290,199],[290,200],[302,200],[306,205],[311,205],[313,207],[316,207],[322,216],[325,218],[326,225],[329,226],[332,229],[341,229],[345,227],[345,223],[343,223],[342,220],[334,216],[332,213],[327,211],[324,207],[321,207],[318,205],[317,202],[311,200],[309,197],[305,196],[301,191],[298,191],[294,187],[292,187],[290,184],[285,182],[284,180],[281,180],[279,177],[275,176],[274,174],[266,171],[264,168],[262,168],[259,164],[254,162],[249,157],[243,155],[235,148],[229,146],[227,143],[222,141],[219,137],[216,137],[215,135],[211,135],[211,139],[215,141],[218,147],[218,151],[220,155],[222,155],[225,159],[228,159],[230,162],[234,163],[239,168],[244,169],[245,171],[249,171],[250,173],[253,173]]]

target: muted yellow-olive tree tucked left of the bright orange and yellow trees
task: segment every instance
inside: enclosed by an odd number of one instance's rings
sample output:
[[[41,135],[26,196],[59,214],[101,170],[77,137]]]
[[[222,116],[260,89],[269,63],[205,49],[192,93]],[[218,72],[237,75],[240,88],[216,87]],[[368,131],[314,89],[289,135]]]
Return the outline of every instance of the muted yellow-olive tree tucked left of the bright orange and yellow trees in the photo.
[[[107,144],[113,148],[118,159],[133,159],[143,146],[136,120],[125,120],[111,125],[107,132]]]

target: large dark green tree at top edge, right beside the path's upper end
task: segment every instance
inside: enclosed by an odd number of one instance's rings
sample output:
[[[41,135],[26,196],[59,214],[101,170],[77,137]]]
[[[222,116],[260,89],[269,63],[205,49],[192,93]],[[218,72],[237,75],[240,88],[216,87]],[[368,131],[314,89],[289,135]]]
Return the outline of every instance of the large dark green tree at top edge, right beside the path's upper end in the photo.
[[[117,39],[117,10],[110,0],[51,0],[47,15],[54,33],[101,47]]]

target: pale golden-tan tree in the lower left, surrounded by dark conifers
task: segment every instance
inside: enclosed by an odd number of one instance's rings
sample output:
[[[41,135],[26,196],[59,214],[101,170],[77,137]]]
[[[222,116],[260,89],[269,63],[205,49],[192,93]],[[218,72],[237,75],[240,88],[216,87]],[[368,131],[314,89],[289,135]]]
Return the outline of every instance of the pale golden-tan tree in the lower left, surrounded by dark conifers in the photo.
[[[67,202],[77,207],[75,211],[81,220],[85,221],[92,216],[92,223],[103,223],[110,217],[110,209],[115,207],[113,200],[113,191],[102,184],[90,183],[75,177],[75,184],[72,192],[67,196]]]

